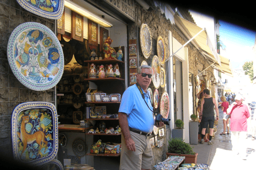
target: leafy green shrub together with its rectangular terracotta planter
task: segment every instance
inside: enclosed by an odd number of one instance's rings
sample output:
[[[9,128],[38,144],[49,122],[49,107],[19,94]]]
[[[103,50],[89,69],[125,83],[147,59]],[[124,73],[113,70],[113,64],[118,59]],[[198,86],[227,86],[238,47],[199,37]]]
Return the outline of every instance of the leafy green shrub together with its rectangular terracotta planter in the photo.
[[[171,138],[168,141],[169,145],[167,147],[166,155],[168,156],[185,156],[185,163],[196,164],[197,155],[192,149],[192,147],[182,141],[179,138]]]

